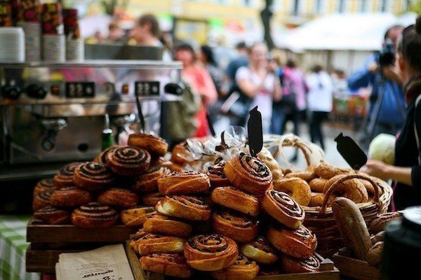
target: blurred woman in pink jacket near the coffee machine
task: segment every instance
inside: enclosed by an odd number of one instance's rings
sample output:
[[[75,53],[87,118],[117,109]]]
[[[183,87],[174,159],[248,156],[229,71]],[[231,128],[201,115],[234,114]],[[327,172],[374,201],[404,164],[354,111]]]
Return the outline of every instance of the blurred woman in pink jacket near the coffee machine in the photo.
[[[197,61],[192,45],[182,43],[176,46],[175,59],[182,62],[182,78],[191,85],[193,92],[199,94],[202,100],[201,109],[196,114],[199,127],[194,136],[206,137],[209,135],[209,126],[206,117],[207,107],[216,102],[218,92],[208,70],[206,70],[203,64]]]

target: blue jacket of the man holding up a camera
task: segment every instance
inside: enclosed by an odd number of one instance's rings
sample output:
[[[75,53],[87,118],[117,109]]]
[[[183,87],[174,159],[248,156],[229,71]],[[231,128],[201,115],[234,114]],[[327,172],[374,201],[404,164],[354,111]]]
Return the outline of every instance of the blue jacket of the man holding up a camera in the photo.
[[[366,62],[363,65],[363,68],[352,73],[348,78],[348,87],[350,90],[355,91],[360,87],[368,87],[371,85],[373,87],[370,100],[375,102],[377,97],[382,90],[382,82],[380,73],[370,73],[367,67],[368,64],[375,61],[375,55],[370,55]],[[405,108],[405,100],[403,97],[403,91],[401,86],[391,80],[385,80],[385,94],[383,95],[382,104],[380,104],[380,111],[377,117],[377,123],[390,124],[390,125],[402,125],[403,117],[399,111],[399,106],[396,104],[396,97],[394,97],[394,92],[398,95],[399,102],[401,103],[402,108]],[[370,117],[374,113],[373,106],[370,106]]]

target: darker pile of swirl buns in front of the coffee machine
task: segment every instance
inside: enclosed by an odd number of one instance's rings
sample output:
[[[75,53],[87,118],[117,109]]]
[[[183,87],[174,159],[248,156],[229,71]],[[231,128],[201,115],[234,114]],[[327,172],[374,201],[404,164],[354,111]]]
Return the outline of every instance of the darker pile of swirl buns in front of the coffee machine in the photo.
[[[72,162],[34,188],[34,218],[46,224],[107,228],[119,218],[140,226],[163,196],[158,179],[177,165],[164,160],[168,144],[150,134],[132,134],[128,146],[103,151],[92,162]],[[139,207],[142,204],[149,207]]]

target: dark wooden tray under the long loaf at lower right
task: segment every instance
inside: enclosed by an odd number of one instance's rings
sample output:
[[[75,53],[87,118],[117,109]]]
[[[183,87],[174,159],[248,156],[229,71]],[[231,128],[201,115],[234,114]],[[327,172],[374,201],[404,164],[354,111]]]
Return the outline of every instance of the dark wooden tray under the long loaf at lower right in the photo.
[[[341,248],[333,255],[333,262],[343,276],[359,280],[381,279],[380,270],[368,265],[365,260],[352,258],[347,248]]]

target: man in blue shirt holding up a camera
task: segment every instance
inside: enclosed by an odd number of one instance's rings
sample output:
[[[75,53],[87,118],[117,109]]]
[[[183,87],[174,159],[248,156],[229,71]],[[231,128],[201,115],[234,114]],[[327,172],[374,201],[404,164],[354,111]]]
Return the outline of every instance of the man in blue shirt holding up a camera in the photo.
[[[396,45],[403,27],[395,25],[390,27],[385,33],[385,41],[392,41]],[[375,118],[375,104],[380,94],[384,92],[382,103],[380,104],[377,121],[372,133],[372,139],[380,133],[395,135],[403,125],[403,116],[399,106],[404,108],[402,80],[396,73],[396,65],[380,66],[377,63],[378,54],[370,55],[364,62],[361,69],[352,73],[348,78],[350,90],[356,91],[361,87],[373,87],[370,94],[369,118]],[[396,98],[399,104],[396,103]],[[366,128],[367,129],[367,128]],[[371,132],[368,132],[371,134]],[[368,139],[368,140],[372,140]]]

